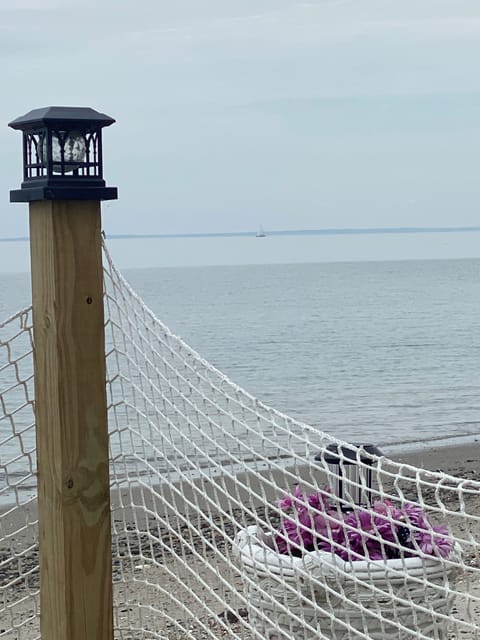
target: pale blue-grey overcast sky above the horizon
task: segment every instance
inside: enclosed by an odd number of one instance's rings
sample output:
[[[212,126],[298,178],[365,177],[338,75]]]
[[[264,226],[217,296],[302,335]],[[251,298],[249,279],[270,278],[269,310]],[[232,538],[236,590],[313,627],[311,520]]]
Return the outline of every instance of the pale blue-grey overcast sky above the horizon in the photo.
[[[479,225],[478,0],[0,0],[0,56],[2,237],[48,105],[117,120],[107,233]]]

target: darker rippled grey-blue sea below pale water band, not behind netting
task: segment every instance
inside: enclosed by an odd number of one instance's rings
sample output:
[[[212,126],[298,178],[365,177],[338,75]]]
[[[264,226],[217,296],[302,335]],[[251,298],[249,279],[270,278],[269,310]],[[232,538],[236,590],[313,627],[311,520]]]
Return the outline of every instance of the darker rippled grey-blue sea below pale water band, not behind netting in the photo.
[[[480,431],[480,260],[138,269],[174,333],[265,403],[387,446]],[[0,274],[0,318],[29,303]]]

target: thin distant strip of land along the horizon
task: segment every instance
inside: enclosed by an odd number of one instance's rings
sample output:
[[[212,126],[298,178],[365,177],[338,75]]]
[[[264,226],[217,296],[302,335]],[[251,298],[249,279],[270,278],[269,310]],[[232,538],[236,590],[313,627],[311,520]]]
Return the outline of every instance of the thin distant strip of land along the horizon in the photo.
[[[332,229],[279,229],[265,231],[265,236],[343,236],[381,235],[407,233],[469,233],[479,232],[478,227],[366,227]],[[212,231],[205,233],[107,233],[109,240],[147,240],[155,238],[254,238],[258,231]],[[263,237],[263,236],[262,236]],[[28,242],[28,236],[0,238],[0,242]]]

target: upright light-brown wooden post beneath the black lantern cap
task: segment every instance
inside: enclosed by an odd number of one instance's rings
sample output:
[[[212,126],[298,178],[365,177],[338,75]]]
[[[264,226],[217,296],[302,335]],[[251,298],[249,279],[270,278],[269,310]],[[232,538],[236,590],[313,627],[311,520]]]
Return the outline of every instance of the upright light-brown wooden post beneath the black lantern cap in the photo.
[[[42,640],[111,640],[99,201],[30,202]]]

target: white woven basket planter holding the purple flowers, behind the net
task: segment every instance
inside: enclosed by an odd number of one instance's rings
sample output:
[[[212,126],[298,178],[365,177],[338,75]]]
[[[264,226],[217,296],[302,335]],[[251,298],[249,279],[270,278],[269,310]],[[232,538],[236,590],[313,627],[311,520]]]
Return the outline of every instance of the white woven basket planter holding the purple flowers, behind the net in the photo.
[[[269,640],[444,640],[457,569],[435,557],[345,562],[327,552],[279,554],[255,525],[240,531],[250,623]],[[455,548],[451,557],[458,560]]]

